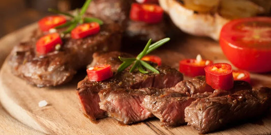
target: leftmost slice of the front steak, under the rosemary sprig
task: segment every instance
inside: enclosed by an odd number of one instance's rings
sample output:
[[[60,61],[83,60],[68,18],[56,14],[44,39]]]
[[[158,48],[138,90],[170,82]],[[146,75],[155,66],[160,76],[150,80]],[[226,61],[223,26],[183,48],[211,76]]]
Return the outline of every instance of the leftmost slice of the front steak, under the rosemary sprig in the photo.
[[[113,67],[112,70],[116,71],[118,65],[122,63],[118,59],[118,56],[121,55],[128,56],[129,54],[123,54],[118,52],[111,52],[105,54],[97,53],[94,54],[94,61],[91,65],[93,66],[96,64],[111,64],[111,66]],[[174,86],[177,82],[183,80],[182,73],[179,73],[175,69],[172,69],[168,66],[154,65],[154,67],[160,71],[160,74],[142,74],[139,72],[130,73],[129,69],[126,69],[125,71],[117,73],[113,77],[100,82],[89,81],[87,77],[85,77],[82,81],[78,83],[77,88],[77,95],[79,96],[79,100],[84,114],[86,114],[90,119],[93,120],[106,116],[105,111],[101,109],[99,110],[100,107],[98,103],[100,102],[100,98],[97,97],[99,97],[98,93],[101,90],[103,90],[104,92],[113,92],[118,90],[121,91],[122,89],[135,89],[143,87],[164,88]],[[100,96],[101,95],[103,95],[103,93],[100,94]],[[97,111],[97,109],[99,111]]]

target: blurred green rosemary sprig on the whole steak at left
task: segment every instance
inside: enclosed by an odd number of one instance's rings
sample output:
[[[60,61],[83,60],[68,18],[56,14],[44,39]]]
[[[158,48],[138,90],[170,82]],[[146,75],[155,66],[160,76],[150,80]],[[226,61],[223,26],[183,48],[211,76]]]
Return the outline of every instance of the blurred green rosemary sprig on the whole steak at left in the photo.
[[[100,25],[103,25],[103,21],[98,19],[98,18],[94,18],[94,17],[83,17],[84,13],[86,12],[89,4],[91,3],[92,0],[87,0],[85,1],[83,7],[81,8],[81,11],[79,12],[78,9],[76,15],[72,15],[70,13],[66,13],[66,12],[61,12],[58,10],[54,10],[54,9],[48,9],[49,12],[53,12],[56,14],[61,14],[61,15],[65,15],[68,17],[71,17],[72,19],[70,21],[67,21],[66,23],[56,26],[56,29],[59,28],[64,28],[64,27],[68,27],[63,33],[67,34],[70,33],[78,24],[82,24],[82,23],[88,23],[88,22],[97,22]]]

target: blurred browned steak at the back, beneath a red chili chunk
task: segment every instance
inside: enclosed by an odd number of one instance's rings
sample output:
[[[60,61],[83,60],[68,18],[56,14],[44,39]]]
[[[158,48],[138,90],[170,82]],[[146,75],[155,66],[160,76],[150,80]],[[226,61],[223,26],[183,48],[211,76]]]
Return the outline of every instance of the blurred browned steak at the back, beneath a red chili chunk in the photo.
[[[124,39],[128,42],[138,40],[158,41],[166,37],[166,22],[147,24],[145,22],[131,21],[129,18],[131,0],[94,0],[89,5],[87,12],[95,14],[104,20],[104,23],[118,23],[124,31]]]

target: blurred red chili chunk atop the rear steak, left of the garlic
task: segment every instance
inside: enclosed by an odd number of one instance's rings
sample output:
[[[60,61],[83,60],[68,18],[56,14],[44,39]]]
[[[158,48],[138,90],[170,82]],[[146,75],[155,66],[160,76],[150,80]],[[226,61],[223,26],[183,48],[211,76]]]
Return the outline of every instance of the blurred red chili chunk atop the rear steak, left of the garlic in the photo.
[[[163,19],[163,9],[155,4],[132,4],[130,19],[146,23],[159,23]]]

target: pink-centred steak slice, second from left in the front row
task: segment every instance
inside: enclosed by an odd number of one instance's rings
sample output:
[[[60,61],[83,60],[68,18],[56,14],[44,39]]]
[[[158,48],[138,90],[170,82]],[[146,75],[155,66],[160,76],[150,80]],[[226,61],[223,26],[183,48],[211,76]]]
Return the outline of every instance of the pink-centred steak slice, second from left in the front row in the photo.
[[[130,124],[137,121],[153,117],[142,105],[145,95],[152,95],[156,91],[144,89],[146,91],[136,91],[134,89],[118,88],[103,89],[100,93],[100,108],[108,112],[108,116]],[[149,90],[149,91],[148,91]]]

